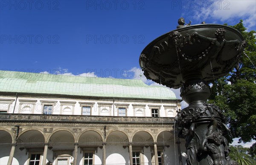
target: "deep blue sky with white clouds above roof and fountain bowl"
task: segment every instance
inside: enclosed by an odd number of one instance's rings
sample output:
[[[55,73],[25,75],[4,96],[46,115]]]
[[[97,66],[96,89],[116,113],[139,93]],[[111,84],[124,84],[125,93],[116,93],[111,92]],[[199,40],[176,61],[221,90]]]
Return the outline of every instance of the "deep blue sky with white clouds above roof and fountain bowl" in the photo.
[[[180,17],[192,25],[242,19],[256,30],[256,1],[0,0],[0,69],[157,85],[143,76],[140,53]]]

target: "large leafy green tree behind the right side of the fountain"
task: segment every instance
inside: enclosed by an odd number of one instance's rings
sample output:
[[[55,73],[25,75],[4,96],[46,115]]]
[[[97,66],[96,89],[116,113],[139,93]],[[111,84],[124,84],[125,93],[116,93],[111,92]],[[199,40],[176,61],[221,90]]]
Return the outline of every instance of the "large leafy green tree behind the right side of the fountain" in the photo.
[[[224,110],[233,138],[251,142],[256,140],[256,31],[246,31],[242,20],[231,27],[241,32],[247,46],[233,71],[212,83],[209,102]],[[250,153],[256,155],[256,144]]]

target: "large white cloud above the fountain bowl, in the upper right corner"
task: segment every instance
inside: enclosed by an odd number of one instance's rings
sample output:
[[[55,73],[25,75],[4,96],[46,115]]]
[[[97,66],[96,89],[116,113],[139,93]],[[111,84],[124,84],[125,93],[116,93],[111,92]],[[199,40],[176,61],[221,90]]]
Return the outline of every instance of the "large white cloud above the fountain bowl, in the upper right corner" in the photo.
[[[189,4],[188,4],[189,6]],[[186,17],[191,17],[199,22],[211,19],[215,23],[217,20],[222,23],[234,24],[243,20],[244,26],[251,30],[256,30],[256,2],[255,0],[218,0],[201,1],[197,3],[196,9],[183,12]]]

